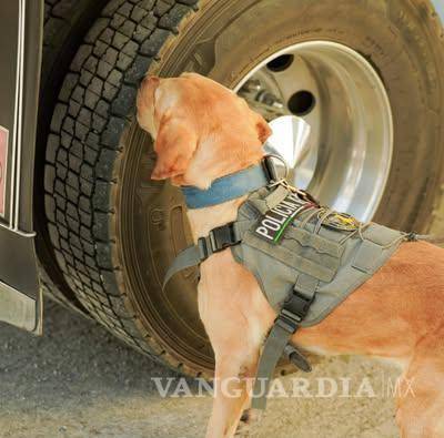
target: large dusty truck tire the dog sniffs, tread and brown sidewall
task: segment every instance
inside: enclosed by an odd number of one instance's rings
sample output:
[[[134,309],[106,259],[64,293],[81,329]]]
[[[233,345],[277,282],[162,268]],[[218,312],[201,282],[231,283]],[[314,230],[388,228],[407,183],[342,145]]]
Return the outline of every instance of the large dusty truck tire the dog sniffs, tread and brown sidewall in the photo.
[[[260,61],[311,40],[345,45],[374,67],[394,128],[375,217],[426,230],[444,175],[444,38],[426,0],[111,0],[64,78],[44,167],[57,264],[93,318],[185,374],[210,376],[214,363],[195,269],[161,287],[190,233],[178,191],[150,181],[155,155],[134,119],[138,86],[147,72],[183,71],[235,86]]]

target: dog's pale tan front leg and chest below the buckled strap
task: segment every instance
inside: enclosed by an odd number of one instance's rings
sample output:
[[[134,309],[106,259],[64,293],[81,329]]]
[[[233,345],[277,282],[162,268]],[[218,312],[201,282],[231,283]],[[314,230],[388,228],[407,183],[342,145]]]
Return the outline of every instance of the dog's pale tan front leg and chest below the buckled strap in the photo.
[[[250,406],[260,349],[274,320],[252,274],[230,252],[201,267],[199,313],[215,357],[213,410],[208,438],[229,438]]]

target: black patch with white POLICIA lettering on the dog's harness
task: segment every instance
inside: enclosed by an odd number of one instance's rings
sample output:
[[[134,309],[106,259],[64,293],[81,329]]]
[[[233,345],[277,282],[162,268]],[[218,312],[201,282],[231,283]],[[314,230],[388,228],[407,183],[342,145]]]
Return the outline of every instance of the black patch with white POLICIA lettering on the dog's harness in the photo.
[[[293,222],[294,217],[311,206],[313,206],[312,203],[303,201],[292,193],[261,217],[254,228],[254,234],[268,242],[279,243],[285,228]]]

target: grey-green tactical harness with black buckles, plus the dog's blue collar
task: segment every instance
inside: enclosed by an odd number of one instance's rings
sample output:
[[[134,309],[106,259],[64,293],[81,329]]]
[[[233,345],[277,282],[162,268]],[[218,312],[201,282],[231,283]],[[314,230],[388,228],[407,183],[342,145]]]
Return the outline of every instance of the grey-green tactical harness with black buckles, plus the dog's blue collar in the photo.
[[[299,327],[324,319],[414,235],[320,205],[306,192],[279,180],[271,157],[213,182],[208,191],[182,189],[189,208],[244,194],[236,221],[219,226],[181,252],[164,286],[178,272],[199,266],[228,247],[252,272],[278,317],[259,361],[252,407],[264,409],[271,378],[285,353],[304,371],[311,366],[290,339]],[[270,267],[273,268],[270,268]],[[259,396],[258,396],[259,395]]]

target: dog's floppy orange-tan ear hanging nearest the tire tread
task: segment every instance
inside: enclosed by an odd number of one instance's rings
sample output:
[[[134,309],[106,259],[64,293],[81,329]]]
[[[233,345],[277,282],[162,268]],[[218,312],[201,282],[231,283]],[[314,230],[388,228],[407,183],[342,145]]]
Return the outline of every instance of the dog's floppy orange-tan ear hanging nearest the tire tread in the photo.
[[[155,152],[158,161],[151,174],[152,180],[167,180],[183,175],[198,146],[195,132],[183,119],[164,114],[161,119]]]

